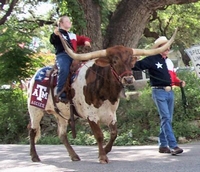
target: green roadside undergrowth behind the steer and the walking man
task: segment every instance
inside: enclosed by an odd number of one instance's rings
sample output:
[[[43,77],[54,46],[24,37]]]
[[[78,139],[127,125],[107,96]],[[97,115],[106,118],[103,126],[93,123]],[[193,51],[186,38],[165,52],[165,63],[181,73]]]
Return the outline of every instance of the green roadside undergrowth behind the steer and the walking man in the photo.
[[[173,129],[177,139],[185,137],[187,140],[199,139],[200,127],[200,81],[194,72],[183,71],[178,73],[179,78],[186,81],[184,88],[188,106],[183,106],[180,88],[175,88],[175,111]],[[147,85],[137,99],[121,99],[117,110],[118,137],[115,145],[142,145],[157,143],[149,139],[158,136],[160,128],[159,115],[151,98],[151,88]],[[19,90],[0,91],[0,142],[27,143],[28,132],[26,126],[26,97]],[[44,127],[45,125],[41,125]],[[46,130],[43,130],[46,131]],[[96,145],[96,140],[87,120],[76,121],[76,139],[68,129],[68,139],[74,145]],[[103,126],[104,142],[107,142],[110,133]],[[61,144],[55,132],[42,133],[39,144]]]

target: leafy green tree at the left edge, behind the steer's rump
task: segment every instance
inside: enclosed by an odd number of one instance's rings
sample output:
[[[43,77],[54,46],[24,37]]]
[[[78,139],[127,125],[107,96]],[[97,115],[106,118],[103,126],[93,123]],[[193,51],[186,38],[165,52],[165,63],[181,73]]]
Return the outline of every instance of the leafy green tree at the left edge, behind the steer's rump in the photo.
[[[26,34],[28,27],[15,25],[12,19],[0,26],[0,85],[30,77],[43,64],[30,48],[33,34]]]

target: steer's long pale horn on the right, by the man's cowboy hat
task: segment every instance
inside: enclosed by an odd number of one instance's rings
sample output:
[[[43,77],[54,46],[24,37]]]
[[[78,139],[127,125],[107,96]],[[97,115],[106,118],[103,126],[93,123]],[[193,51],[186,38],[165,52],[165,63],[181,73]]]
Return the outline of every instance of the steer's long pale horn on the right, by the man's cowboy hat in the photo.
[[[159,54],[159,53],[164,52],[173,43],[174,38],[175,38],[176,33],[177,33],[177,30],[178,29],[175,30],[171,39],[166,44],[164,44],[162,47],[159,47],[159,48],[156,48],[156,49],[149,49],[149,50],[133,49],[134,56],[150,56],[150,55]]]

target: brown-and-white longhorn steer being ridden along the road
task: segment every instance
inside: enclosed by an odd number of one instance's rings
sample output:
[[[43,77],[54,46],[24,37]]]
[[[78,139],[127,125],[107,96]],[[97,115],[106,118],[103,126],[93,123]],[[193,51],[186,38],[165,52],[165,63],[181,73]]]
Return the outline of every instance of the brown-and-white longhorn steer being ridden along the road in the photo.
[[[97,141],[100,163],[108,163],[107,154],[111,151],[117,137],[116,110],[119,105],[119,95],[122,90],[121,80],[124,76],[131,75],[131,68],[137,59],[134,56],[160,53],[171,45],[174,37],[175,34],[165,46],[153,50],[139,50],[124,46],[115,46],[91,53],[75,54],[68,47],[65,47],[67,53],[74,59],[93,59],[86,62],[80,68],[79,74],[71,87],[74,107],[77,113],[89,122]],[[60,139],[68,150],[71,160],[79,161],[80,158],[69,144],[66,135],[68,120],[70,119],[70,105],[64,103],[57,104],[65,119],[55,112],[51,93],[49,93],[45,110],[31,106],[30,94],[32,93],[34,81],[33,77],[28,90],[28,110],[31,119],[29,133],[30,154],[32,161],[40,161],[36,152],[35,143],[40,136],[40,121],[44,111],[56,117]],[[103,133],[100,128],[100,123],[107,125],[110,129],[110,140],[105,147],[103,147]]]

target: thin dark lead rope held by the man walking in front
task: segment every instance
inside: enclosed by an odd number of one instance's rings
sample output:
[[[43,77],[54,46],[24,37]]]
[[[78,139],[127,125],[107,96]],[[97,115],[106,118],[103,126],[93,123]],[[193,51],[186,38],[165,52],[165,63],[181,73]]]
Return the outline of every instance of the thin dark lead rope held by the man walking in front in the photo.
[[[135,66],[135,68],[137,68],[139,71],[141,71],[141,72],[147,74],[147,72],[143,71],[143,70],[140,69],[139,67]],[[148,73],[148,74],[149,74],[149,73]],[[150,75],[150,74],[149,74],[149,76],[151,76],[152,78],[155,78],[155,79],[157,79],[157,80],[166,82],[166,80],[157,78],[157,77],[152,76],[152,75]],[[177,82],[172,82],[172,83],[177,83]],[[183,104],[183,108],[184,108],[184,113],[187,114],[187,113],[186,113],[186,108],[187,108],[187,106],[188,106],[188,102],[187,102],[187,98],[186,98],[186,95],[185,95],[184,88],[182,87],[182,82],[180,83],[180,90],[181,90],[181,98],[182,98],[182,104]]]

